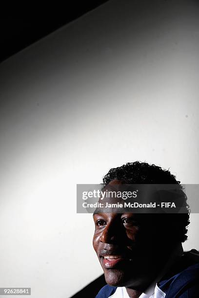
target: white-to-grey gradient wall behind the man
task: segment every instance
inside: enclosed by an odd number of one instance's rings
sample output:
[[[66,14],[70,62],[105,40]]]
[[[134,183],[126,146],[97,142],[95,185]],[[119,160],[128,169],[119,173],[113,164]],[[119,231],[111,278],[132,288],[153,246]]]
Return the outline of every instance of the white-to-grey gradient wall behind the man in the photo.
[[[3,62],[0,85],[0,287],[68,298],[102,273],[77,183],[136,160],[199,183],[199,3],[111,0]]]

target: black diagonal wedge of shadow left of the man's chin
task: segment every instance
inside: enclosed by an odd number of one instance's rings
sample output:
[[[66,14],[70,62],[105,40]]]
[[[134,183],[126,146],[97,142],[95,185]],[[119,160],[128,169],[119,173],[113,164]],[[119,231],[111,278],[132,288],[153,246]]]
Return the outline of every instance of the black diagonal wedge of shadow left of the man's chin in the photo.
[[[106,284],[104,275],[101,275],[99,278],[95,279],[89,283],[85,288],[80,290],[71,298],[82,298],[82,297],[96,297],[100,289]]]

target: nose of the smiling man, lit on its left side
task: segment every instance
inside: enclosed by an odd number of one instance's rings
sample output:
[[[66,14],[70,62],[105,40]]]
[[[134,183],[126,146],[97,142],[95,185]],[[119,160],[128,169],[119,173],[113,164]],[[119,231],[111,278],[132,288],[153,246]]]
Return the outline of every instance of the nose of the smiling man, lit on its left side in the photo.
[[[100,242],[114,243],[121,238],[121,231],[118,225],[109,223],[105,226],[100,236]]]

